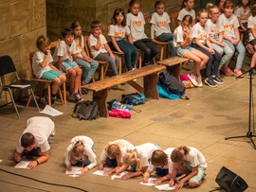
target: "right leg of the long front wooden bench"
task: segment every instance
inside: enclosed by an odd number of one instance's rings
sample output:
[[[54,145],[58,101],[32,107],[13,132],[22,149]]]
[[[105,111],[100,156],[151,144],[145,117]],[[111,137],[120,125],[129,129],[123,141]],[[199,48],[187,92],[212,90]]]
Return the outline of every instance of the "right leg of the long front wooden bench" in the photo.
[[[158,77],[159,75],[157,73],[144,77],[145,97],[159,99],[159,94],[157,90]]]

